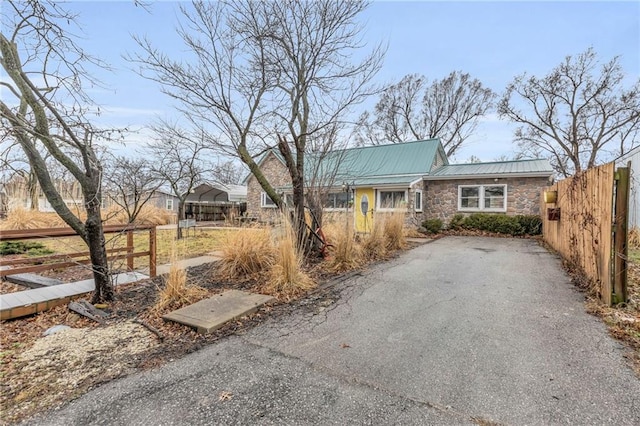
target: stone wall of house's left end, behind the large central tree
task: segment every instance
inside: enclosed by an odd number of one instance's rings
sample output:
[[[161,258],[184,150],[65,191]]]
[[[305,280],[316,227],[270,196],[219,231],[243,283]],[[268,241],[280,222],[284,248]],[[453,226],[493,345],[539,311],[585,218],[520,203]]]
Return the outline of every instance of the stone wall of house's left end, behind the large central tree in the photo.
[[[269,153],[260,166],[262,173],[276,189],[283,186],[291,186],[289,171],[275,155]],[[257,217],[259,220],[273,220],[278,214],[278,209],[261,207],[263,189],[255,176],[251,175],[247,181],[247,215]]]

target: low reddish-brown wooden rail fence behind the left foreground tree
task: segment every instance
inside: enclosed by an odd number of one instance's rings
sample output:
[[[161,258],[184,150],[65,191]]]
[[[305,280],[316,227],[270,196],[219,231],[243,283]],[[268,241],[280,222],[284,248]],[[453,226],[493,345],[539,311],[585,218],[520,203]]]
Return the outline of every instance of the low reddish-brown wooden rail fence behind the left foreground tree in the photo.
[[[135,252],[133,246],[134,231],[149,231],[149,249]],[[105,234],[126,233],[126,247],[107,250],[109,261],[127,260],[127,270],[133,271],[133,260],[136,257],[149,257],[149,276],[156,276],[156,228],[155,226],[105,225]],[[0,241],[31,240],[35,238],[70,237],[78,234],[71,228],[24,229],[0,231]],[[0,260],[0,277],[27,272],[40,272],[50,269],[68,268],[71,266],[91,264],[88,252],[56,254],[50,256],[27,257],[12,260]]]

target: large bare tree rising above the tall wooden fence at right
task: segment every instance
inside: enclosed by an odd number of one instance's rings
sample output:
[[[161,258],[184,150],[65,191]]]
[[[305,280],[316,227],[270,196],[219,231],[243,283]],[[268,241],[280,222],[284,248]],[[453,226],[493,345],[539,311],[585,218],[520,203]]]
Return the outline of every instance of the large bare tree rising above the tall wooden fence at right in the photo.
[[[520,124],[522,152],[545,153],[569,176],[630,150],[640,129],[640,79],[624,86],[619,58],[602,64],[590,48],[542,78],[522,74],[506,89],[501,117]]]

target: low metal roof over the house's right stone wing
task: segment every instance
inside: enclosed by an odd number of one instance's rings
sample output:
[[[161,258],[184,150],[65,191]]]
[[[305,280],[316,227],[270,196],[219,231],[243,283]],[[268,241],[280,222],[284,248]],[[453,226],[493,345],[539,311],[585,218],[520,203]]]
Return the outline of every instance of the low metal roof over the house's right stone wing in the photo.
[[[493,175],[551,176],[553,168],[545,159],[498,161],[494,163],[448,164],[434,170],[427,179],[455,179]]]

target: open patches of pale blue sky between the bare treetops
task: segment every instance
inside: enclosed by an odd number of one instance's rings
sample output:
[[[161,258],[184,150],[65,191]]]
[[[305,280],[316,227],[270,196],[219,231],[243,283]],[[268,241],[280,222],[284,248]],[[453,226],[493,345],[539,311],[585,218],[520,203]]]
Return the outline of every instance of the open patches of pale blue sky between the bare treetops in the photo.
[[[74,2],[87,51],[110,63],[114,72],[100,72],[107,88],[94,90],[105,108],[101,118],[118,126],[143,126],[154,116],[170,116],[171,101],[156,83],[129,69],[122,59],[135,52],[131,35],[148,37],[167,52],[182,49],[174,28],[177,4],[155,3],[149,11],[133,1]],[[501,93],[514,76],[542,76],[567,55],[593,47],[603,61],[621,57],[628,81],[640,76],[640,2],[374,2],[362,16],[367,40],[388,44],[381,83],[406,74],[428,79],[451,71],[470,73]],[[375,103],[372,99],[370,105]],[[511,155],[513,127],[495,115],[479,126],[470,144],[457,155],[491,161]]]

